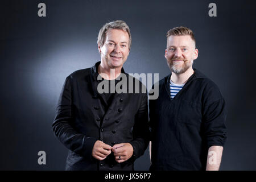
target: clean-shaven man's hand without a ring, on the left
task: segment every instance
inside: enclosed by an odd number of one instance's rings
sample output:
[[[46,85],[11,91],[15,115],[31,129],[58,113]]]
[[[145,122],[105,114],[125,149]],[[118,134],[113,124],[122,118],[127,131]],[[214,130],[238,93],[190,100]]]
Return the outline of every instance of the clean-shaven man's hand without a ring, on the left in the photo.
[[[112,147],[108,144],[97,140],[93,146],[92,156],[95,159],[104,160],[111,153],[111,149]]]

